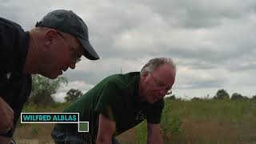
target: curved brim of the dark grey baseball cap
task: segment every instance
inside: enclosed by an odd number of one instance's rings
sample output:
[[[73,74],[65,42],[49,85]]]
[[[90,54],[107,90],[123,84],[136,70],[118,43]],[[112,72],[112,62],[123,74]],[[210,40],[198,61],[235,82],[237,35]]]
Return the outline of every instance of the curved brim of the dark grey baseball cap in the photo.
[[[93,46],[90,45],[90,42],[87,42],[86,40],[84,40],[82,38],[78,38],[78,41],[82,44],[82,47],[85,50],[85,54],[83,54],[83,55],[86,58],[88,58],[90,60],[97,60],[97,59],[99,59],[98,54],[94,50]]]

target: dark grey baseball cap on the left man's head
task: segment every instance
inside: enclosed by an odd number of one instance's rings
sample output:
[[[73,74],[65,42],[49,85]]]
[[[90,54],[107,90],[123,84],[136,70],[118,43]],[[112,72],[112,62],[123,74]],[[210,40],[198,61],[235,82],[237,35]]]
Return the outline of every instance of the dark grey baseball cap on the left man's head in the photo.
[[[40,22],[37,22],[37,26],[50,27],[56,30],[60,30],[64,33],[71,34],[78,38],[78,41],[82,44],[82,47],[86,51],[83,54],[90,60],[99,59],[98,54],[90,45],[88,28],[86,23],[79,18],[77,14],[74,14],[71,10],[54,10],[46,14]]]

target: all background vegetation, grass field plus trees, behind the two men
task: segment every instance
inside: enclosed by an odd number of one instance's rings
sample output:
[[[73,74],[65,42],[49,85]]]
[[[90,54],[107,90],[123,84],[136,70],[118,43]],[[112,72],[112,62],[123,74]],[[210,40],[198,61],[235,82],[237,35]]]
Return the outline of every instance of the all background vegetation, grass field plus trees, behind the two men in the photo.
[[[33,92],[23,112],[62,112],[82,96],[70,89],[66,102],[54,102],[52,95],[66,78],[50,80],[33,76]],[[14,134],[18,143],[53,143],[50,132],[53,124],[21,124]],[[162,112],[161,133],[165,143],[255,143],[256,95],[228,94],[218,90],[212,97],[190,100],[169,95]],[[146,122],[118,136],[122,143],[146,143]]]

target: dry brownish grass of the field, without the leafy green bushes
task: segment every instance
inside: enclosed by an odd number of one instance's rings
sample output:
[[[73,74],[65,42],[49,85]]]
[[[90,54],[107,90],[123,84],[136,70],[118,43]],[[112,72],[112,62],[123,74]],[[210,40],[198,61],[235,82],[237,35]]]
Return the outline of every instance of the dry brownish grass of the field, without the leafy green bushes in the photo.
[[[180,133],[167,135],[166,144],[256,144],[254,102],[174,101],[170,103],[170,113],[174,110],[178,111],[182,126]],[[51,112],[62,111],[57,108],[55,107]],[[53,124],[18,124],[18,126],[20,127],[14,134],[18,144],[54,143],[50,136]],[[136,131],[128,130],[117,138],[123,144],[134,144]]]

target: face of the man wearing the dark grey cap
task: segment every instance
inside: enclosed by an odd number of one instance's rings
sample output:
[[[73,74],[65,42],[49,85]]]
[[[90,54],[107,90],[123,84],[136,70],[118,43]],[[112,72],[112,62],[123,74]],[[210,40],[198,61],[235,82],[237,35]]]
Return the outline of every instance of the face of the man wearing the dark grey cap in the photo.
[[[62,71],[66,71],[69,67],[74,69],[75,64],[84,54],[77,38],[57,30],[53,31],[53,36],[49,49],[46,51],[43,70],[41,70],[43,76],[52,79],[57,78]]]

